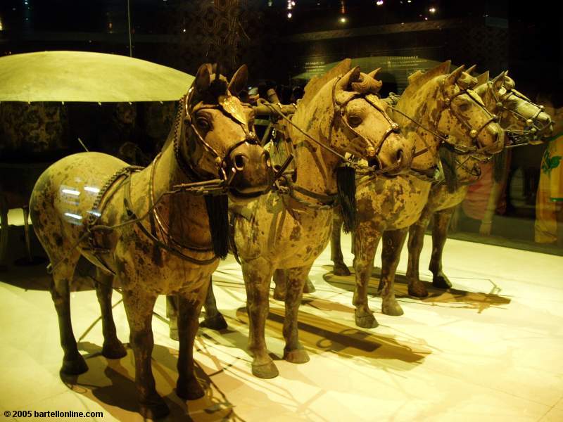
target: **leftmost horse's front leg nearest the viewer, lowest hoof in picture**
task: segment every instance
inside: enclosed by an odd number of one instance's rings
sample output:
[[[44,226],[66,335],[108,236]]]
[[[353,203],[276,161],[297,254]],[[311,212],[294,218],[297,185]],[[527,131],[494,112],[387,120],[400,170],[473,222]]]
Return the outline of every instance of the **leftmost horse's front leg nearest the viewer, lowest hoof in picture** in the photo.
[[[123,305],[129,321],[130,342],[135,357],[135,385],[139,394],[139,413],[145,418],[162,418],[170,413],[163,398],[156,392],[151,369],[154,340],[153,308],[157,295],[139,288],[123,291]]]

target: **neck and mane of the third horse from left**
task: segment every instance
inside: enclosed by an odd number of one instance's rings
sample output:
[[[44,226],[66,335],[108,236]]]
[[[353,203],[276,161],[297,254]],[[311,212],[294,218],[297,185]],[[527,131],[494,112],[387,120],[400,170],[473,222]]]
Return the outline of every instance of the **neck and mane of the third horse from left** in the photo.
[[[438,101],[437,98],[441,98],[441,96],[440,85],[437,78],[434,78],[422,85],[412,96],[403,94],[396,108],[419,122],[422,127],[437,133],[438,121],[443,112],[441,101]],[[428,148],[425,153],[413,158],[411,167],[416,170],[428,170],[435,167],[438,163],[438,147],[441,139],[400,113],[393,113],[393,117],[403,128],[405,136],[415,143],[415,151]]]

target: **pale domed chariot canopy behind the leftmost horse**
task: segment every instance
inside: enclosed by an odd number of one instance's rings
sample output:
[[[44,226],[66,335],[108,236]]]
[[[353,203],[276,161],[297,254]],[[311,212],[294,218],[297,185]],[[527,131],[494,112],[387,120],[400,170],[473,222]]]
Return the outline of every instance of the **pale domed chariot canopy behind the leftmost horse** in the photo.
[[[41,51],[0,58],[0,101],[176,101],[194,77],[139,58]]]

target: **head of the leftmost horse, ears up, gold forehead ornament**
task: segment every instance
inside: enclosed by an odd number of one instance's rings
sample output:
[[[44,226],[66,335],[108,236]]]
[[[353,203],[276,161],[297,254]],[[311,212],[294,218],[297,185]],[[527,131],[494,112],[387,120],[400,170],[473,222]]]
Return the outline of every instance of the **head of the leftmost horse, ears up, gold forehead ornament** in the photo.
[[[260,146],[248,113],[234,95],[247,78],[246,65],[230,82],[216,65],[201,65],[179,111],[180,167],[191,179],[222,179],[234,200],[264,193],[273,178],[270,155]]]

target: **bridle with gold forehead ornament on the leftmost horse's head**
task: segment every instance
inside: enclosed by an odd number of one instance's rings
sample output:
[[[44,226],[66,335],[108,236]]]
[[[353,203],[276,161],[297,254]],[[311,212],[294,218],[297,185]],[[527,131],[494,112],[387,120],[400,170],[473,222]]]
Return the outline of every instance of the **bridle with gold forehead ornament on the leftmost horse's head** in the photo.
[[[193,95],[194,89],[190,88],[188,94],[180,100],[185,114],[178,113],[177,116],[174,136],[175,158],[180,169],[182,170],[182,172],[184,172],[184,175],[189,179],[189,181],[196,182],[198,186],[205,186],[205,188],[209,189],[208,193],[221,195],[227,193],[227,191],[232,189],[232,181],[234,180],[234,177],[238,172],[236,165],[234,165],[230,169],[230,176],[227,176],[226,170],[229,166],[229,156],[234,150],[236,150],[236,148],[239,148],[240,146],[246,144],[258,145],[259,139],[258,136],[256,136],[255,132],[252,132],[250,129],[248,129],[248,124],[246,123],[243,107],[234,96],[221,96],[217,104],[205,104],[202,101],[190,108],[189,104],[191,103],[191,98]],[[213,146],[210,146],[210,144],[205,141],[196,125],[194,124],[193,115],[195,115],[200,110],[220,110],[223,115],[229,117],[231,120],[239,124],[239,126],[243,129],[245,135],[244,138],[229,146],[224,155],[220,155],[220,153],[215,148],[213,148]],[[183,121],[182,114],[184,114]],[[182,135],[184,135],[184,139],[186,140],[191,139],[188,131],[183,129],[184,125],[186,128],[189,128],[191,130],[191,133],[195,135],[196,140],[201,144],[201,146],[203,146],[203,148],[205,148],[205,150],[213,156],[213,161],[215,162],[215,166],[217,168],[218,179],[208,179],[208,177],[204,176],[196,169],[194,169],[189,160],[186,160],[184,154],[182,154],[182,145],[180,143]],[[189,185],[191,184],[178,184],[173,187],[177,189],[187,187]]]

